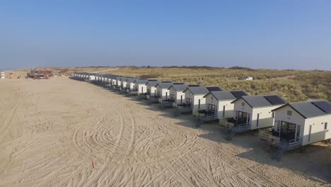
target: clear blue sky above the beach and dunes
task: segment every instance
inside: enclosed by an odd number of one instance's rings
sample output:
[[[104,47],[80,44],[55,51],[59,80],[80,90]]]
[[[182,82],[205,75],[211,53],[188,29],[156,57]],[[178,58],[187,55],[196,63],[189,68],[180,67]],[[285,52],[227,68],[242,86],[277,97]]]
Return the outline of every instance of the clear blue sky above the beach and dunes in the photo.
[[[0,69],[331,70],[331,1],[0,1]]]

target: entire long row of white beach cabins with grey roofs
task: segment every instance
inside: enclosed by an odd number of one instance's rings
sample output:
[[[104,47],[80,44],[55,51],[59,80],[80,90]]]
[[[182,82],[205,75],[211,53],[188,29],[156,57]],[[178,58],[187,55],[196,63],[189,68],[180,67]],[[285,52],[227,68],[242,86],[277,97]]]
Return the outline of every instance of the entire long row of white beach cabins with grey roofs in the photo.
[[[74,77],[109,86],[126,96],[138,96],[148,103],[160,103],[161,109],[176,108],[175,116],[192,113],[197,127],[219,120],[227,130],[226,140],[240,132],[259,130],[261,140],[277,147],[274,159],[280,159],[286,150],[331,140],[331,104],[327,101],[286,103],[277,95],[249,96],[246,91],[112,74],[82,72]]]

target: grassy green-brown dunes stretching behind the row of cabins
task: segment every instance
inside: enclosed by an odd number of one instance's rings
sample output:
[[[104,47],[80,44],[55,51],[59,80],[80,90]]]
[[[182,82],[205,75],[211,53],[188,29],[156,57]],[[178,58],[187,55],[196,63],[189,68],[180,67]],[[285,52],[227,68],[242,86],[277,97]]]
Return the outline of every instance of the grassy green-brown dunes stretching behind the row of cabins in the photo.
[[[81,72],[87,69],[79,69]],[[98,69],[99,70],[99,69]],[[103,73],[127,77],[156,78],[162,81],[221,86],[225,90],[245,90],[251,95],[278,94],[289,102],[309,99],[331,101],[331,72],[211,67],[126,67]],[[243,80],[253,77],[253,81]]]

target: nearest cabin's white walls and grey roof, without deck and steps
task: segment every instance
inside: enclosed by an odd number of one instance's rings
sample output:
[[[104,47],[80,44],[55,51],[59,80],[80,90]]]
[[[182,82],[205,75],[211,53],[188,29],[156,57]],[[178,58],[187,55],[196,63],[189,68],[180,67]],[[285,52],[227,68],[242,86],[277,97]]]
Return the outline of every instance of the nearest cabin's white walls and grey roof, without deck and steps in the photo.
[[[331,139],[331,104],[327,101],[288,103],[274,111],[274,132],[301,145]]]

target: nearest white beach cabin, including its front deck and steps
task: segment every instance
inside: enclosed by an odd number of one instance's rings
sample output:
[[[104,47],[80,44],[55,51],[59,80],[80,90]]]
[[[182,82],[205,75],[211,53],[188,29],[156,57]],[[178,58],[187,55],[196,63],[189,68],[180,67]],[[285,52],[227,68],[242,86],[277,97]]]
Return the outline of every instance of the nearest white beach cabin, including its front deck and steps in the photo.
[[[331,104],[327,101],[287,103],[275,108],[272,130],[260,130],[260,138],[278,147],[273,159],[284,152],[328,140],[331,142]]]

